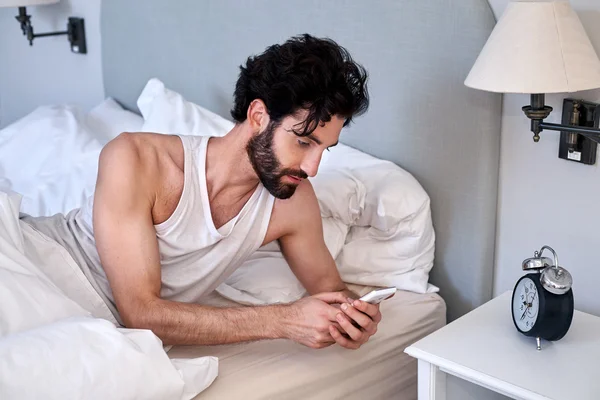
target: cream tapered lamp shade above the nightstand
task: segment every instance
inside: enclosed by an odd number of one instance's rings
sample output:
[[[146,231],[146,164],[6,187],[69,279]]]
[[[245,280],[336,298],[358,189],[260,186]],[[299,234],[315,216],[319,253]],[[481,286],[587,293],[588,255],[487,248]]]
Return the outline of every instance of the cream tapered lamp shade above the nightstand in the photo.
[[[600,87],[600,60],[568,1],[513,1],[465,85],[500,93],[572,93]]]

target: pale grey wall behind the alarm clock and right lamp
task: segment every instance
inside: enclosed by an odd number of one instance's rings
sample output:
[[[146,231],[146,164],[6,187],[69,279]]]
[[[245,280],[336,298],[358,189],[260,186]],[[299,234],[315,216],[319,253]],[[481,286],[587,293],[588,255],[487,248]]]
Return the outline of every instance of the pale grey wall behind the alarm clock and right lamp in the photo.
[[[509,0],[490,0],[497,18]],[[600,54],[600,2],[571,0]],[[548,95],[554,108],[548,122],[560,123],[564,97],[600,102],[600,90]],[[521,262],[547,244],[573,275],[575,307],[600,315],[600,167],[558,158],[559,133],[531,139],[521,107],[529,96],[504,95],[494,296],[511,290],[523,274]]]

